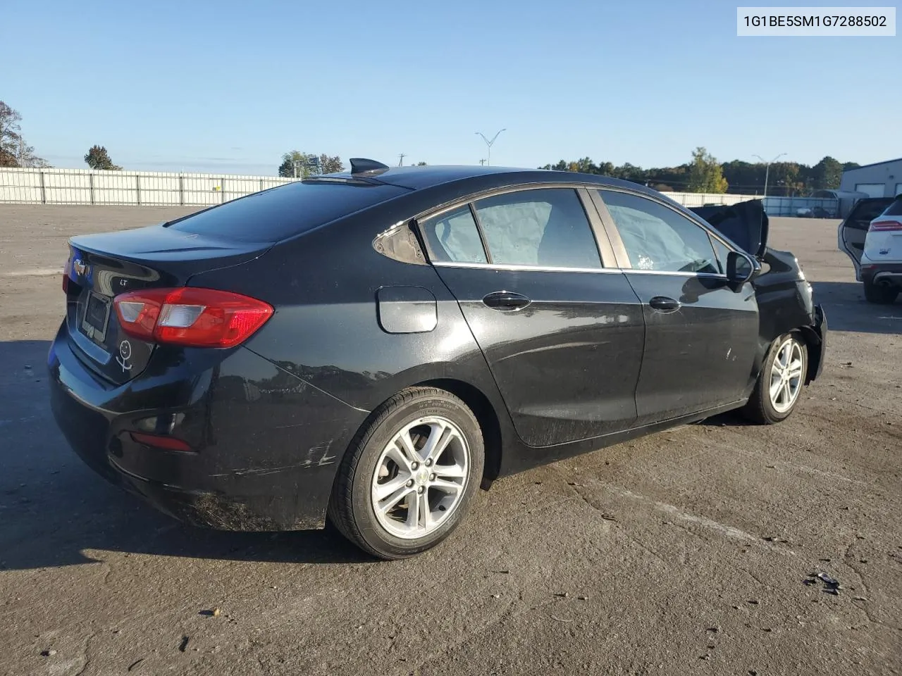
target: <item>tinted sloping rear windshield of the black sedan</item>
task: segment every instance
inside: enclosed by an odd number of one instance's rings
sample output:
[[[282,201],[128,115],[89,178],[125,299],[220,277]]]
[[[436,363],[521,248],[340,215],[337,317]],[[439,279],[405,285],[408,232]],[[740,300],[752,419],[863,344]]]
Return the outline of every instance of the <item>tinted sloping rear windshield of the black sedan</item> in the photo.
[[[190,215],[170,227],[239,242],[278,242],[406,192],[396,186],[290,183]]]

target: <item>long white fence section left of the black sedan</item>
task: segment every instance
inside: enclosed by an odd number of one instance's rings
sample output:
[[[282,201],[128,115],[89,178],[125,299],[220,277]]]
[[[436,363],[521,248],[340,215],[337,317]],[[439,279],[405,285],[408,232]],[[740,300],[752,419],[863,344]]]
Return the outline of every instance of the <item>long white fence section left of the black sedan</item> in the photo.
[[[92,169],[0,169],[0,203],[212,206],[293,178]]]

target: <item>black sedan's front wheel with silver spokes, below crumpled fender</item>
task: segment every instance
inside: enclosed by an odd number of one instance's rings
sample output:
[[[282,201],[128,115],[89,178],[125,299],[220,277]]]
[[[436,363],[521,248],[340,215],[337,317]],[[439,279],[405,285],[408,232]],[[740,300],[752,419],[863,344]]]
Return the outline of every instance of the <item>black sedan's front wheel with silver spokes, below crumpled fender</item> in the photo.
[[[808,349],[798,334],[780,336],[772,344],[742,412],[761,425],[786,420],[796,408],[807,369]]]

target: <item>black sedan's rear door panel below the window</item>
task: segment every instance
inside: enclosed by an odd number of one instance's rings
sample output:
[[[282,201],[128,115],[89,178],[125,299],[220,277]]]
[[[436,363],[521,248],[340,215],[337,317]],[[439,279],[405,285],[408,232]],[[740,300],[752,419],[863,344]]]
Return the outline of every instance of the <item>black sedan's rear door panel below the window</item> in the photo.
[[[460,301],[523,442],[550,446],[635,423],[645,325],[621,272],[438,273]],[[498,311],[483,303],[502,290],[529,305]]]

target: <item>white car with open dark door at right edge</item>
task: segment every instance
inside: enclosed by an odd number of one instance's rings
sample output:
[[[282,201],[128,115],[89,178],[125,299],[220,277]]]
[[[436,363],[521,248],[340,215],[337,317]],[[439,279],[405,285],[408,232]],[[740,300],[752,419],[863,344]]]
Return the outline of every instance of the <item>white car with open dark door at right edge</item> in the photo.
[[[870,303],[893,303],[902,291],[902,195],[869,197],[852,207],[836,234]]]

